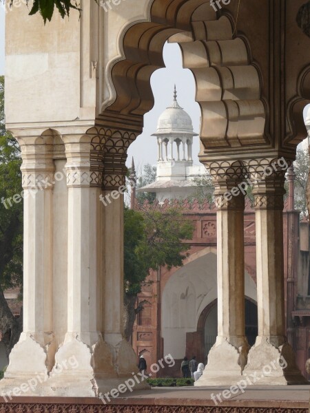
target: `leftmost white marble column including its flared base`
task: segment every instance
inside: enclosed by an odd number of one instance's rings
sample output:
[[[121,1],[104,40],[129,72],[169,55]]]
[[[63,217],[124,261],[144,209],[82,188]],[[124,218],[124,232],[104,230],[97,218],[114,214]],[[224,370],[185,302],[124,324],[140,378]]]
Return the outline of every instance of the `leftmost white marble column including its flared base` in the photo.
[[[23,164],[23,332],[10,353],[1,384],[35,374],[48,377],[53,352],[52,187],[54,162],[50,136],[19,138]]]

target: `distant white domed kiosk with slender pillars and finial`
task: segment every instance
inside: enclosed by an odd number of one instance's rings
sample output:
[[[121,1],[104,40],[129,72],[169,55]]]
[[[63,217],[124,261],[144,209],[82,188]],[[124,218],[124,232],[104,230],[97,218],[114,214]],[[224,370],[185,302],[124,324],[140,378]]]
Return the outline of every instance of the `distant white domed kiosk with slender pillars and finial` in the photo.
[[[172,105],[159,116],[156,133],[152,135],[157,136],[158,162],[192,162],[193,137],[198,134],[194,133],[192,119],[180,107],[176,96],[176,85],[174,85]]]

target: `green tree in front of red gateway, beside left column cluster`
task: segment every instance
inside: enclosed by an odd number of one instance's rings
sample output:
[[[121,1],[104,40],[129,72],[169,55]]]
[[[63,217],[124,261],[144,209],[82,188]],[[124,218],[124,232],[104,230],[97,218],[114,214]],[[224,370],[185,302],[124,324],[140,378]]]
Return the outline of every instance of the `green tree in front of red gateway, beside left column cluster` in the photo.
[[[149,270],[160,266],[182,266],[187,257],[194,226],[185,220],[178,209],[161,212],[156,208],[133,211],[124,215],[124,326],[127,340],[132,335],[136,314],[143,310],[143,302],[136,307]]]

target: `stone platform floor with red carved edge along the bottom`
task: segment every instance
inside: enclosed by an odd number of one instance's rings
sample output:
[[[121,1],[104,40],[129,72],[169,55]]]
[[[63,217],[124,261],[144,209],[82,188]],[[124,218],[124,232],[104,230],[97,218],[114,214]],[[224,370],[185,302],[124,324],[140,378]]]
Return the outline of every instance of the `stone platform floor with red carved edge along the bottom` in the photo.
[[[225,387],[153,388],[136,391],[103,403],[85,397],[0,398],[0,413],[308,413],[310,385],[251,386],[223,403],[211,395]]]

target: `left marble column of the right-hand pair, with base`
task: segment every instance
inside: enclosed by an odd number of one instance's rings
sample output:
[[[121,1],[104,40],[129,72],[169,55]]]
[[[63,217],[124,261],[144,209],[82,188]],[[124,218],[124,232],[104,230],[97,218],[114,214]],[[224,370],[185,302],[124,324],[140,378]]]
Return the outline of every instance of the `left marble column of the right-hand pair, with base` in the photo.
[[[240,180],[215,178],[217,204],[218,337],[203,376],[195,383],[231,385],[247,363],[245,337],[245,195]]]

